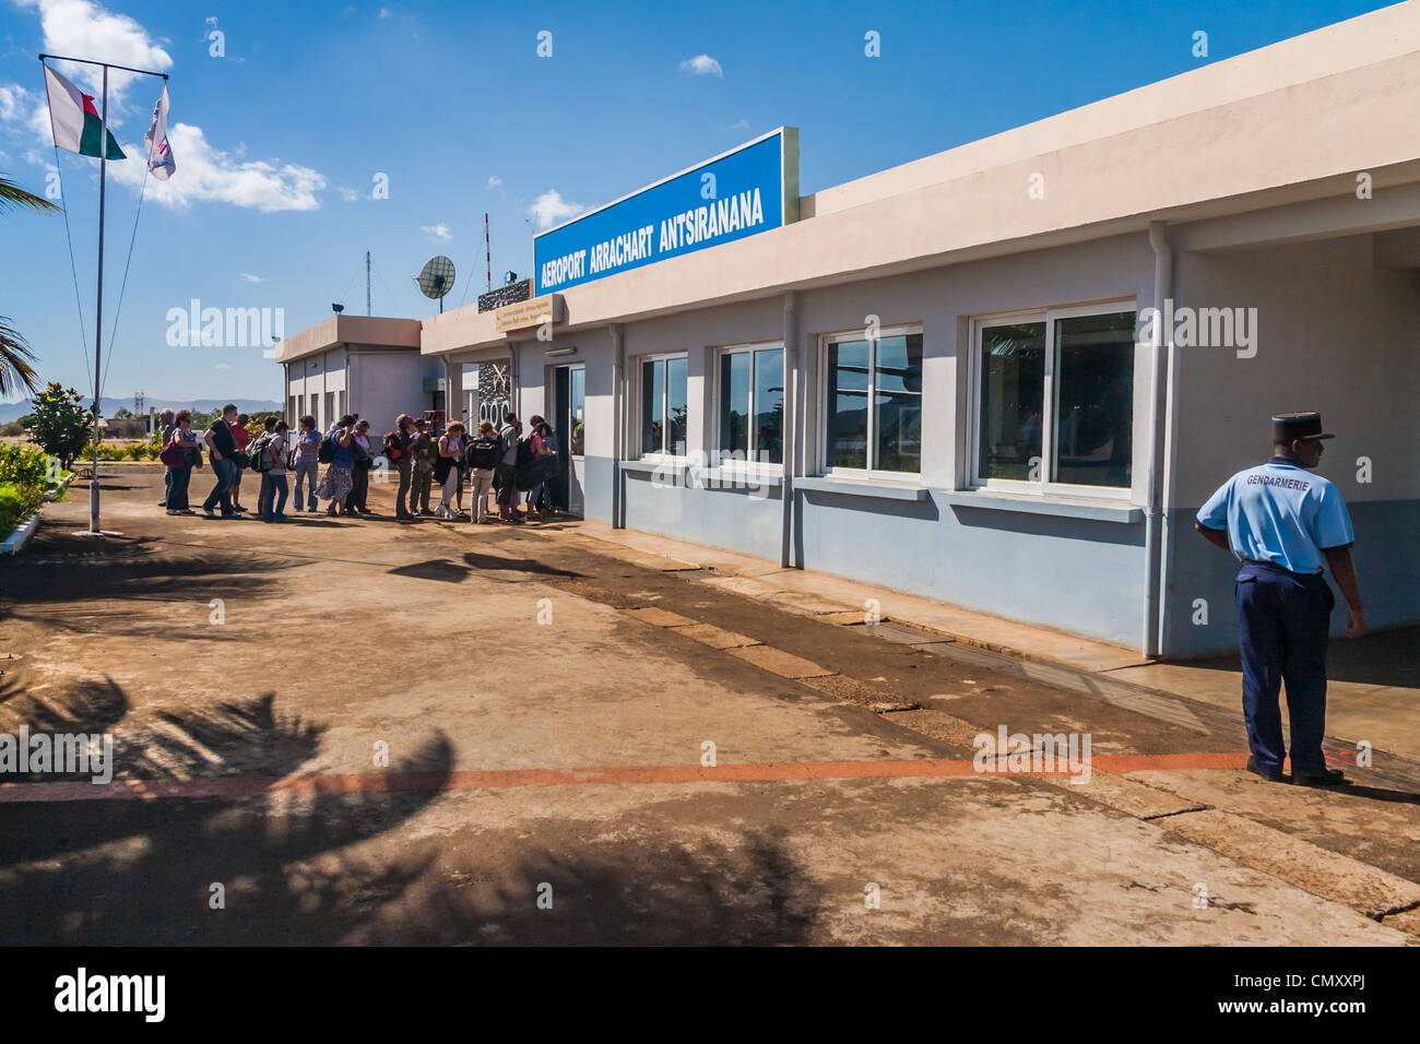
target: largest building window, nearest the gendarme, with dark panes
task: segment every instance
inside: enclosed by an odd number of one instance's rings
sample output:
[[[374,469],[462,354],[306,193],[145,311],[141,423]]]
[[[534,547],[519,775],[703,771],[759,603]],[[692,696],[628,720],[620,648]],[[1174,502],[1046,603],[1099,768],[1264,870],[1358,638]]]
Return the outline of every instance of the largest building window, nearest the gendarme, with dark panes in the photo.
[[[1130,490],[1135,320],[1069,308],[977,324],[976,484]]]

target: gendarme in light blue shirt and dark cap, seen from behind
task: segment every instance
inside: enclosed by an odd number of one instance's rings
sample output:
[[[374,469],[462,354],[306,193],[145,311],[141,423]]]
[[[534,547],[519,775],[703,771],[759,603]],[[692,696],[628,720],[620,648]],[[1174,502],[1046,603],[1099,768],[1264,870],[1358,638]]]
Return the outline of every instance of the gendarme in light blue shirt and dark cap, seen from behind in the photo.
[[[1194,528],[1242,562],[1234,592],[1242,653],[1242,713],[1252,750],[1248,771],[1281,781],[1282,714],[1278,690],[1287,682],[1292,720],[1292,783],[1346,783],[1322,757],[1326,732],[1326,635],[1335,597],[1322,575],[1346,597],[1346,636],[1366,631],[1366,614],[1350,558],[1350,516],[1340,491],[1319,474],[1321,413],[1272,418],[1272,457],[1238,472],[1208,497]]]

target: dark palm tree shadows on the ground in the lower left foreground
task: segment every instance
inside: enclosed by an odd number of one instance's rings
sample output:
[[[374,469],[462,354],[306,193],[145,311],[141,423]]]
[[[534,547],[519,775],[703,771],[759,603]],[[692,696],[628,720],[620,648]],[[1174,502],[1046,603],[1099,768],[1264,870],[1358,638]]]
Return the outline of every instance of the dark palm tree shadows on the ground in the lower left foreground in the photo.
[[[0,703],[7,727],[24,712],[72,732],[109,730],[128,706],[111,680]],[[116,751],[124,777],[288,776],[324,734],[271,693],[139,729]],[[410,791],[6,803],[0,945],[795,943],[815,923],[821,895],[772,834],[692,851],[564,821],[530,847],[480,822],[498,818],[479,794],[439,828],[400,830],[453,757],[436,733],[392,764],[425,778]]]

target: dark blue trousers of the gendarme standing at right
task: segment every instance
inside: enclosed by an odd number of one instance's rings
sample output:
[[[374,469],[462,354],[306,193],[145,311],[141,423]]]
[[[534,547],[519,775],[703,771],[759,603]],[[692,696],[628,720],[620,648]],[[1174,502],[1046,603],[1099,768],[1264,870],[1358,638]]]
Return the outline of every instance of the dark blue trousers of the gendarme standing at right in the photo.
[[[1282,712],[1287,683],[1292,722],[1292,774],[1326,767],[1326,634],[1336,605],[1326,578],[1275,565],[1244,565],[1234,585],[1242,652],[1242,714],[1252,757],[1265,770],[1282,768]]]

